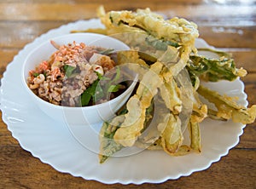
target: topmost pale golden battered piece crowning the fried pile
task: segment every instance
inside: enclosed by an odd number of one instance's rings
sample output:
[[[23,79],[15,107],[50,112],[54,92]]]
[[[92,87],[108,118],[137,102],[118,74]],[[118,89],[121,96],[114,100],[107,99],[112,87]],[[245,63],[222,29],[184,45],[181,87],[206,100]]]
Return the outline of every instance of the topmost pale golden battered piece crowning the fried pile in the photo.
[[[101,7],[98,9],[98,15],[108,29],[112,29],[114,26],[119,28],[133,26],[129,28],[145,31],[157,38],[182,43],[190,43],[190,36],[198,37],[198,31],[194,23],[177,18],[164,20],[160,14],[154,14],[150,9],[137,9],[136,12],[127,10],[110,11],[106,14],[103,7]],[[179,34],[183,34],[183,37],[180,38]]]

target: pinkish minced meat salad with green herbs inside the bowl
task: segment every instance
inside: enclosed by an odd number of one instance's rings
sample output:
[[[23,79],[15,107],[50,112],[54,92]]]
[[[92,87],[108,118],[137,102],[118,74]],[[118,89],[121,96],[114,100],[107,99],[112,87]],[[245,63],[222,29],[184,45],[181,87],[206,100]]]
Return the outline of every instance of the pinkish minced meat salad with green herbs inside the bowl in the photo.
[[[49,60],[41,62],[29,72],[30,89],[43,100],[60,106],[90,106],[95,104],[96,85],[105,72],[115,66],[111,49],[68,43],[59,46]],[[116,74],[118,75],[118,74]],[[106,79],[106,81],[111,79]],[[117,79],[114,79],[117,80]],[[108,83],[108,92],[116,92],[123,85]],[[113,91],[111,91],[111,89]],[[97,92],[99,93],[99,92]],[[104,100],[102,100],[103,102]]]

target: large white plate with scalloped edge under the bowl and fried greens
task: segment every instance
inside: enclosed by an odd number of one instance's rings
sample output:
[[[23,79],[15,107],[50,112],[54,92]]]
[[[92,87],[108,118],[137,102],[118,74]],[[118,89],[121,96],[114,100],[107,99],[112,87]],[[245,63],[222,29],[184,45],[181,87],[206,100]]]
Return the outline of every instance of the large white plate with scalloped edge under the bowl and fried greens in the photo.
[[[55,122],[32,104],[20,81],[22,62],[39,43],[71,30],[92,27],[102,27],[100,20],[79,20],[51,30],[27,44],[7,67],[0,99],[3,121],[26,151],[32,152],[34,157],[49,163],[60,172],[81,176],[86,180],[108,184],[141,184],[174,180],[207,169],[236,146],[245,125],[207,119],[201,123],[201,154],[170,157],[165,152],[143,151],[123,158],[109,158],[103,164],[98,163],[97,154],[81,145],[65,123]],[[202,39],[197,40],[196,45],[209,47]],[[247,106],[247,95],[243,92],[244,85],[240,80],[208,85],[220,93],[238,96],[239,103]]]

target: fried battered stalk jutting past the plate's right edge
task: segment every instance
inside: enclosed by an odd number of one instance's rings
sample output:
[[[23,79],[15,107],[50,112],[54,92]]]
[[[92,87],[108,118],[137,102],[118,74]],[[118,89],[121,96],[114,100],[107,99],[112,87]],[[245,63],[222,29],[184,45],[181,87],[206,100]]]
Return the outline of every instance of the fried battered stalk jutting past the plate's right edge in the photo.
[[[235,123],[247,124],[254,122],[256,117],[255,105],[251,108],[239,106],[231,97],[218,94],[218,92],[203,86],[200,86],[197,92],[217,107],[217,117],[222,117],[224,119],[232,118]]]

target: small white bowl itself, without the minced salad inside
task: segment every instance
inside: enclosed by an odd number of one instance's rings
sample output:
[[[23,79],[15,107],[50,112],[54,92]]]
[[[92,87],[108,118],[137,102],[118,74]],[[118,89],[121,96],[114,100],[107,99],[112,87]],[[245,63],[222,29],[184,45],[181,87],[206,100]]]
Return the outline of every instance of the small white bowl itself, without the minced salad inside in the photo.
[[[95,33],[72,33],[51,38],[50,40],[53,40],[55,43],[60,45],[73,43],[73,41],[75,41],[76,43],[83,42],[86,45],[100,46],[103,48],[114,49],[115,51],[130,49],[125,43],[122,43],[113,37],[107,37]],[[36,94],[34,94],[31,89],[28,88],[26,79],[29,71],[35,69],[35,67],[38,66],[38,64],[43,60],[48,60],[50,55],[56,51],[56,49],[50,43],[50,40],[42,43],[37,49],[34,49],[30,54],[28,54],[22,67],[22,83],[24,84],[24,88],[26,89],[27,94],[32,98],[33,102],[49,117],[52,117],[56,121],[64,121],[68,124],[88,125],[101,123],[102,121],[106,121],[110,117],[113,117],[115,112],[117,112],[130,97],[131,92],[137,83],[135,80],[132,81],[130,87],[126,89],[123,94],[120,94],[113,100],[109,100],[95,106],[84,107],[56,106],[42,100]]]

